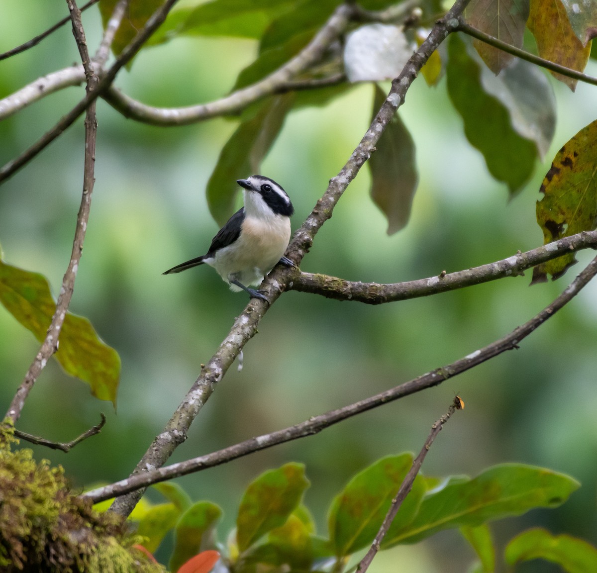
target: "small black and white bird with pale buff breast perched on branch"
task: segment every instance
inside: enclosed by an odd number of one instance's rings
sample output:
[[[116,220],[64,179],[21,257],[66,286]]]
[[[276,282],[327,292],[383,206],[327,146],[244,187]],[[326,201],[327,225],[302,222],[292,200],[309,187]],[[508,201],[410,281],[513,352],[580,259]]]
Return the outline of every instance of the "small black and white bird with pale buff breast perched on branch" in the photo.
[[[216,269],[232,291],[242,289],[252,298],[267,300],[248,285],[259,285],[279,262],[294,266],[283,256],[290,241],[294,207],[282,186],[272,179],[251,175],[236,183],[244,189],[245,206],[219,230],[207,253],[168,269],[164,275],[205,263]]]

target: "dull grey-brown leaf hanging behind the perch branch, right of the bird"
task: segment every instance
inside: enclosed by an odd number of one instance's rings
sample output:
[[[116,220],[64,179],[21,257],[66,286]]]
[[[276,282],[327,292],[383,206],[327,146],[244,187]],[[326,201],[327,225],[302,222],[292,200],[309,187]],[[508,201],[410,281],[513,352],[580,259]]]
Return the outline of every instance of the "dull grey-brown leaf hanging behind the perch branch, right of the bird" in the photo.
[[[373,118],[386,94],[375,85]],[[387,217],[387,234],[393,235],[408,223],[418,175],[415,147],[411,134],[395,113],[367,162],[371,170],[370,194],[373,202]]]

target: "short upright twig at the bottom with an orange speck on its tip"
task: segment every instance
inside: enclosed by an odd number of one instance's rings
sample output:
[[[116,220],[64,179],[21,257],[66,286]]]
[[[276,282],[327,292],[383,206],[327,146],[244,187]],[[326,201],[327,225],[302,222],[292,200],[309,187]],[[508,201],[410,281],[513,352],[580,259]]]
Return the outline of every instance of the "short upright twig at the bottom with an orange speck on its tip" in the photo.
[[[377,532],[370,549],[356,567],[356,573],[365,573],[365,571],[367,571],[371,565],[373,558],[377,555],[377,552],[380,549],[381,541],[383,541],[383,538],[386,537],[387,531],[390,529],[390,525],[392,525],[394,517],[396,517],[396,513],[398,513],[400,506],[402,506],[402,502],[405,500],[408,493],[411,491],[411,488],[413,487],[414,479],[417,477],[417,474],[423,465],[423,460],[425,459],[433,440],[435,440],[435,437],[439,434],[442,427],[444,427],[444,424],[450,420],[450,416],[454,414],[454,411],[460,410],[462,407],[463,402],[461,401],[460,397],[456,396],[453,402],[450,404],[448,411],[431,427],[431,432],[429,433],[429,436],[427,436],[423,448],[421,448],[421,451],[413,461],[413,467],[411,467],[404,480],[402,480],[400,488],[398,489],[398,493],[393,498],[390,509],[387,510],[386,517],[384,517],[383,523],[381,523],[379,531]]]

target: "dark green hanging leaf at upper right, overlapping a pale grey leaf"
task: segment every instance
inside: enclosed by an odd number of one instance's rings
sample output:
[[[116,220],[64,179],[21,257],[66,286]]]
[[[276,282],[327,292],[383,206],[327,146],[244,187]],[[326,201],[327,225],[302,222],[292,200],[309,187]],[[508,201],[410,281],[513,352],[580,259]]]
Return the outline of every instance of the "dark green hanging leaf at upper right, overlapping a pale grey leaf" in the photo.
[[[454,34],[448,56],[448,94],[464,120],[464,133],[483,154],[491,175],[515,193],[533,174],[537,146],[512,127],[507,107],[484,89],[479,64]]]

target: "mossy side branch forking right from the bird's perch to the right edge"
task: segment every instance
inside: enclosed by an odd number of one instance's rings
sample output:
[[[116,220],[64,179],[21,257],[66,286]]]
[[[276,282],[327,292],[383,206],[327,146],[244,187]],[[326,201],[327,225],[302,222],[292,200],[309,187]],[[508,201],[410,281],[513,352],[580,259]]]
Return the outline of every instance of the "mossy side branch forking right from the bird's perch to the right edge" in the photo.
[[[344,281],[335,276],[297,272],[297,276],[293,278],[288,288],[294,291],[321,294],[336,300],[383,304],[470,287],[506,276],[522,275],[525,270],[537,264],[586,248],[597,248],[597,231],[585,231],[571,235],[531,251],[518,252],[511,257],[496,261],[496,263],[482,264],[479,267],[460,270],[456,273],[442,272],[439,275],[417,281],[384,285],[375,282]]]

